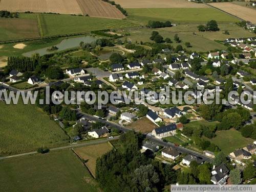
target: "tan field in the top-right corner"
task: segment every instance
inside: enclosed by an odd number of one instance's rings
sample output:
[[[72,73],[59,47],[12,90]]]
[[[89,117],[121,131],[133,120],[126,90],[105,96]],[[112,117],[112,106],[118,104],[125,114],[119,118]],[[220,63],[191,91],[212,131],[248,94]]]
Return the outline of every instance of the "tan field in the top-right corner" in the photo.
[[[235,15],[246,21],[251,21],[256,23],[256,10],[250,9],[244,6],[236,5],[229,2],[223,3],[210,3],[209,5],[214,6],[222,11],[225,11],[229,14]]]

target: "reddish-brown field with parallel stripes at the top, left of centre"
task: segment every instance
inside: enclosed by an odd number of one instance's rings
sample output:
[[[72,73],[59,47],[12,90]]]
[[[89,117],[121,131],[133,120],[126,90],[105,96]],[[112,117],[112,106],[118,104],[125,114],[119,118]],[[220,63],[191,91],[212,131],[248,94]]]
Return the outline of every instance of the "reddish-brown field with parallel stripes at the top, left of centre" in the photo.
[[[125,16],[115,6],[102,0],[77,0],[83,15],[122,19]]]

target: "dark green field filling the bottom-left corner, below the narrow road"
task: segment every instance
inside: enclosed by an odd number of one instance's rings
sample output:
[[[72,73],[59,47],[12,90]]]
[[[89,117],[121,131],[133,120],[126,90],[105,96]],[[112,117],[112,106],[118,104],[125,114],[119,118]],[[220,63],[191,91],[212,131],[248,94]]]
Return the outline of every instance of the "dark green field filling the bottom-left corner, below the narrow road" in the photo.
[[[0,160],[1,191],[99,191],[71,150]]]

